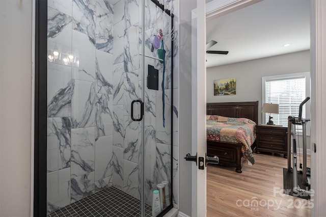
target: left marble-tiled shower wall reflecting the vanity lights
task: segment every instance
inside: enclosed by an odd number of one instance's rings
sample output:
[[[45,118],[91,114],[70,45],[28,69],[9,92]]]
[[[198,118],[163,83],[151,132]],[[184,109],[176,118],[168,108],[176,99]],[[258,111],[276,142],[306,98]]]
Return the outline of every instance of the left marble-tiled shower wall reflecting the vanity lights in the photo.
[[[48,1],[48,212],[112,185],[119,168],[113,10],[107,0]]]

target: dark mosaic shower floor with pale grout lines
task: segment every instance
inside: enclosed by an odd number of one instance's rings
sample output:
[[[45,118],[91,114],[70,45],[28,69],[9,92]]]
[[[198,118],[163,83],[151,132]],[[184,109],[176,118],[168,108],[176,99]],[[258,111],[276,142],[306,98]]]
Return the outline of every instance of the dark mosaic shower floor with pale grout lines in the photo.
[[[145,204],[146,217],[151,216],[151,210],[151,206]],[[108,187],[47,215],[64,216],[141,216],[141,201],[116,187]]]

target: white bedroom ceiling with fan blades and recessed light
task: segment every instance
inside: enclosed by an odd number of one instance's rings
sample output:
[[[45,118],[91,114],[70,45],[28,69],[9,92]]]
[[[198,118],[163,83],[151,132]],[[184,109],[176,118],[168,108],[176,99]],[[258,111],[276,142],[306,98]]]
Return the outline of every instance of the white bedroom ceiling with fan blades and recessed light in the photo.
[[[218,42],[208,50],[229,51],[207,54],[207,68],[308,50],[310,1],[263,0],[207,20],[206,37]]]

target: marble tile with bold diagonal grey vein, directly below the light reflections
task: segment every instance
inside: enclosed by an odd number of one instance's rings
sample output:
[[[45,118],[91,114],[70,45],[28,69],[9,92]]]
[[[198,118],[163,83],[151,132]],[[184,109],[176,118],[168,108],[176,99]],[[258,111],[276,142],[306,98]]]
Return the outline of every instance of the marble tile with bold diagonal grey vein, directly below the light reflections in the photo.
[[[71,67],[47,64],[47,117],[70,117],[74,83]]]

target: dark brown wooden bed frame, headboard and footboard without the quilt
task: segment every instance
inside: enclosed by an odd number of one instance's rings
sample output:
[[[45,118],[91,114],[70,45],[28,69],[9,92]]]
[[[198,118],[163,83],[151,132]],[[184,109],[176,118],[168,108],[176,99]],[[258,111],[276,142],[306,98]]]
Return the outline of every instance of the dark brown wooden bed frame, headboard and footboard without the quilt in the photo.
[[[229,118],[246,118],[258,123],[258,101],[252,102],[217,102],[206,104],[206,115],[223,116]],[[242,143],[231,143],[207,140],[207,155],[218,156],[219,165],[235,167],[235,172],[242,173],[241,157]],[[251,149],[256,147],[256,141]]]

